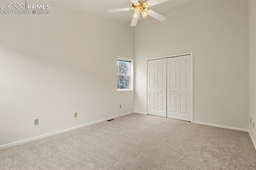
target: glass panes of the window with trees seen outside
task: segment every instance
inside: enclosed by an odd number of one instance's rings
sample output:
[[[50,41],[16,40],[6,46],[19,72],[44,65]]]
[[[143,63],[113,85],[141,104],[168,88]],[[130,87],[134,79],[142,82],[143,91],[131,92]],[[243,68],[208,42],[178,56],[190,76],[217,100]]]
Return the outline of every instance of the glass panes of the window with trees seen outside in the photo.
[[[130,63],[128,60],[117,59],[117,89],[130,89]]]

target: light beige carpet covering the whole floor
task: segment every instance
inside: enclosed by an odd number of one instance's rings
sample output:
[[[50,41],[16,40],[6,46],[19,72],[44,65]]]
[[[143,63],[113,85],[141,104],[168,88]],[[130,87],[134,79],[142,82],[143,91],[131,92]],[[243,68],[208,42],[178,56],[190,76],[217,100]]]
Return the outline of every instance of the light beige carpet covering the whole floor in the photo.
[[[0,150],[0,169],[256,169],[248,132],[130,114]]]

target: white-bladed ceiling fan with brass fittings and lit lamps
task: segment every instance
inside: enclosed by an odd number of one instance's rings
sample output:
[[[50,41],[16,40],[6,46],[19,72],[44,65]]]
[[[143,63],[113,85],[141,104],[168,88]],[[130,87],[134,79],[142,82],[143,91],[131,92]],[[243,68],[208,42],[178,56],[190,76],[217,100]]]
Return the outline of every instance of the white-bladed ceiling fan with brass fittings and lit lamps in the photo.
[[[116,10],[108,10],[108,13],[114,12],[122,12],[122,11],[129,11],[134,10],[134,14],[132,15],[132,23],[131,26],[136,26],[138,22],[138,18],[140,18],[140,13],[142,14],[143,18],[146,18],[148,15],[155,18],[158,21],[163,22],[166,18],[150,9],[150,6],[154,6],[157,4],[161,4],[163,2],[167,2],[169,0],[149,0],[149,1],[138,1],[138,0],[130,0],[132,2],[132,7],[130,8],[120,8]]]

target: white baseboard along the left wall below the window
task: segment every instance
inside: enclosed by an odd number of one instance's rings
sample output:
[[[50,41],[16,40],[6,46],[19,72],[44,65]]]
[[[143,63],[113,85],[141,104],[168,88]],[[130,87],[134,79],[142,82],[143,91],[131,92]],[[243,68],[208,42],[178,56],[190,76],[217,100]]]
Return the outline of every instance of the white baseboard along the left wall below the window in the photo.
[[[29,141],[32,141],[32,140],[44,138],[44,137],[47,137],[47,136],[52,136],[52,135],[54,135],[54,134],[66,132],[66,131],[69,131],[69,130],[74,130],[74,129],[76,129],[76,128],[85,127],[85,126],[92,125],[92,124],[95,124],[95,123],[107,121],[107,120],[109,120],[109,119],[117,118],[117,117],[124,116],[124,115],[128,115],[128,114],[131,114],[131,113],[134,113],[134,111],[129,112],[129,113],[124,113],[124,114],[121,114],[121,115],[117,115],[117,116],[113,116],[113,117],[108,117],[108,118],[106,118],[106,119],[101,119],[101,120],[99,120],[99,121],[94,121],[94,122],[86,123],[86,124],[84,124],[84,125],[79,125],[79,126],[76,126],[76,127],[66,128],[66,129],[63,129],[63,130],[58,130],[58,131],[56,131],[56,132],[51,132],[51,133],[43,134],[43,135],[40,135],[40,136],[35,136],[35,137],[32,137],[32,138],[28,138],[28,139],[19,140],[19,141],[16,141],[16,142],[4,144],[4,145],[1,145],[1,146],[0,146],[0,149],[2,149],[2,148],[7,148],[7,147],[10,147],[10,146],[14,146],[14,145],[17,145],[17,144],[22,144],[22,143],[29,142]]]

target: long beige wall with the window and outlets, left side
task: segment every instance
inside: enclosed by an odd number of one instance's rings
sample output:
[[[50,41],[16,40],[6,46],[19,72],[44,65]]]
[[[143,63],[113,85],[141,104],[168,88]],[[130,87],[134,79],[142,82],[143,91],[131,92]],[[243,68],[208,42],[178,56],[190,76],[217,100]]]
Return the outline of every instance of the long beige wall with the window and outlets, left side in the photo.
[[[116,57],[134,60],[135,29],[51,7],[0,15],[0,146],[134,111]]]

